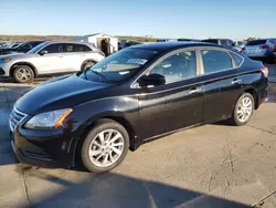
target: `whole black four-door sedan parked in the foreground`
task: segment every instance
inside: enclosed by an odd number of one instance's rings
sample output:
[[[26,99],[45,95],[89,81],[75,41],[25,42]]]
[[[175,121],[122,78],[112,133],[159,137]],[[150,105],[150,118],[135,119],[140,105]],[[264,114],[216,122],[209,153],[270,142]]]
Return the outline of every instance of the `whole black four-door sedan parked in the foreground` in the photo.
[[[262,62],[220,45],[135,45],[21,97],[10,116],[12,145],[22,163],[82,160],[107,171],[129,148],[179,129],[245,125],[266,98],[267,75]]]

